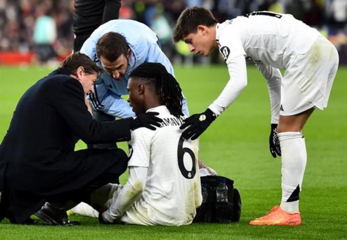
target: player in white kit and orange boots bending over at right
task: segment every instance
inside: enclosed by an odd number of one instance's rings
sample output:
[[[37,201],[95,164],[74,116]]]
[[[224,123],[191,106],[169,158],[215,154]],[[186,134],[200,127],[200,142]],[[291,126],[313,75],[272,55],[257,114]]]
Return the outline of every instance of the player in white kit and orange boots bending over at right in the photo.
[[[282,152],[282,201],[251,225],[300,225],[299,193],[307,161],[302,129],[315,108],[327,107],[339,65],[334,45],[316,29],[290,14],[258,11],[218,23],[203,7],[186,8],[174,28],[174,41],[208,56],[219,48],[229,81],[205,112],[180,127],[197,138],[247,85],[246,61],[267,80],[271,102],[270,152]],[[286,68],[282,76],[280,68]],[[278,126],[277,126],[278,125]]]

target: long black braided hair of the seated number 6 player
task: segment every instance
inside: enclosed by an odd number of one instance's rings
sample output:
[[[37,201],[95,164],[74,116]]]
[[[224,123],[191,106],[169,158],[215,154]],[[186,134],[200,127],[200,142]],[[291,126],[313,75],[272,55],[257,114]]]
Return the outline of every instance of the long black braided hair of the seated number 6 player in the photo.
[[[182,116],[182,90],[174,78],[161,63],[145,62],[138,66],[131,74],[131,78],[152,84],[170,113],[175,117]]]

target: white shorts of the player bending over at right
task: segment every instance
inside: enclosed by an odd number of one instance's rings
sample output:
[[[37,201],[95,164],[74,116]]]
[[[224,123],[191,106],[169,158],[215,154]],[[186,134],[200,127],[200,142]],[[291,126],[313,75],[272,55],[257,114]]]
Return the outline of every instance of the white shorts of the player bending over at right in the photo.
[[[319,36],[305,54],[292,56],[281,84],[280,115],[327,107],[339,65],[335,46]]]

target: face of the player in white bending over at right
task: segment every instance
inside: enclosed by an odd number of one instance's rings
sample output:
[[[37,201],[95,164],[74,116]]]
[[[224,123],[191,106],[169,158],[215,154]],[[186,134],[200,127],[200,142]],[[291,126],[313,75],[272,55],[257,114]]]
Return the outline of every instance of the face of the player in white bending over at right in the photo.
[[[195,33],[189,33],[183,38],[183,41],[188,44],[190,52],[197,55],[209,56],[214,50],[213,41],[210,39],[210,34],[205,26],[198,26]]]

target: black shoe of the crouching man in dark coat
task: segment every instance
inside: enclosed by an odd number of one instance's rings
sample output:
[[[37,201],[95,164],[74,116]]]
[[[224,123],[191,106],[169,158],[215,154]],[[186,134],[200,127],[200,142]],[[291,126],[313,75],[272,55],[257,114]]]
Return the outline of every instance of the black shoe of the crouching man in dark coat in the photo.
[[[47,223],[53,225],[66,225],[74,226],[80,225],[78,222],[71,222],[67,219],[66,211],[64,208],[55,208],[48,202],[46,202],[35,215]]]

